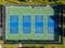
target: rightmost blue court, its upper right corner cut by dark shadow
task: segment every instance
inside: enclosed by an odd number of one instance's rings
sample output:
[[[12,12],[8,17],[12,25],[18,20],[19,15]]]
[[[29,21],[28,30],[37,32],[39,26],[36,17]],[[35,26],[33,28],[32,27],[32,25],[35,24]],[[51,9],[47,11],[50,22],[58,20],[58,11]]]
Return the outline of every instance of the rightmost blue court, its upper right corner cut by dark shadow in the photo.
[[[48,16],[48,33],[49,34],[54,34],[54,20],[51,16]]]

